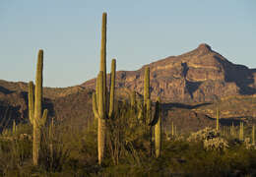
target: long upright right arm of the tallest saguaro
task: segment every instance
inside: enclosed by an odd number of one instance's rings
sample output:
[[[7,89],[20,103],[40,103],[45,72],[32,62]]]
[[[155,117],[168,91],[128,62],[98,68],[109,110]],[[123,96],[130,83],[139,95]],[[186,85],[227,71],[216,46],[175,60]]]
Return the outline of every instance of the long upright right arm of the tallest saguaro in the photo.
[[[114,111],[115,70],[116,70],[116,60],[112,59],[108,117],[112,117],[112,114],[113,114],[113,111]]]

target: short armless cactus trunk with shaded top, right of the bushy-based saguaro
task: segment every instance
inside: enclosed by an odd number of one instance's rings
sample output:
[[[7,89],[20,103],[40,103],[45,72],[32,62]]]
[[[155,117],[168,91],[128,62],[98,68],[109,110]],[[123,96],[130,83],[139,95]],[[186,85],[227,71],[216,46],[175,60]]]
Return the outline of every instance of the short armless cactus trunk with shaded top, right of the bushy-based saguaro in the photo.
[[[155,126],[155,149],[157,158],[160,156],[160,148],[161,148],[161,110],[160,110],[160,97],[158,97],[158,101],[156,103],[156,111],[158,111],[158,122]]]

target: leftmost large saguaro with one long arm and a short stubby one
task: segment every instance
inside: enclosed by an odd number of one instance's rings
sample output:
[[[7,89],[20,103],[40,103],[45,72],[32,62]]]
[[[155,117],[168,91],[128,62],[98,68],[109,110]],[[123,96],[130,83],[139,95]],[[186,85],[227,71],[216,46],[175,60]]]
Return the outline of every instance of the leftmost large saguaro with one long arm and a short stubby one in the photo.
[[[33,83],[29,83],[29,116],[32,123],[32,162],[38,164],[40,148],[40,129],[46,122],[48,110],[42,111],[42,69],[43,69],[43,51],[39,50],[35,75],[35,88]]]

